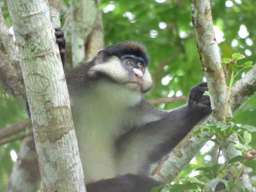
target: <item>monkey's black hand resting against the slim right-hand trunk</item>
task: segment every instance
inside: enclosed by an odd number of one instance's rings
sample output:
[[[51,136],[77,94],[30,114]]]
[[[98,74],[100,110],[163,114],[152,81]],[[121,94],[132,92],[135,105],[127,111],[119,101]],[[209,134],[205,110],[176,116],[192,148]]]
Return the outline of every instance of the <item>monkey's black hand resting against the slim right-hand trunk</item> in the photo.
[[[210,97],[203,95],[204,91],[208,91],[207,83],[200,83],[191,89],[188,99],[189,110],[203,115],[211,113]]]

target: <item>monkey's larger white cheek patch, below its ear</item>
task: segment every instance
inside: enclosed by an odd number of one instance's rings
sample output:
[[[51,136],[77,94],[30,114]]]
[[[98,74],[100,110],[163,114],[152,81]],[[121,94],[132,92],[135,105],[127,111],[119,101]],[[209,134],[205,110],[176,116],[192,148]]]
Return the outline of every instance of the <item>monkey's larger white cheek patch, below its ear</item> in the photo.
[[[97,72],[102,72],[120,83],[126,83],[129,79],[129,72],[123,68],[121,60],[116,56],[111,57],[106,63],[94,65],[89,75],[93,76]]]

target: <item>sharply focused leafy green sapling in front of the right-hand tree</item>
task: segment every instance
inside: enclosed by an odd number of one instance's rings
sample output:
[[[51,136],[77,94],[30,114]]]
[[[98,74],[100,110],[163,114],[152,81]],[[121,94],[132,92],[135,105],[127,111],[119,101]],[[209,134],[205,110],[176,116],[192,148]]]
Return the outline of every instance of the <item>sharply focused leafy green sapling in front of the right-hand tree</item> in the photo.
[[[242,69],[246,68],[251,68],[254,66],[251,66],[252,61],[247,61],[242,65],[237,65],[237,61],[244,59],[245,56],[243,56],[240,53],[234,53],[232,54],[232,59],[229,58],[224,58],[223,63],[226,65],[231,65],[232,66],[232,73],[230,77],[230,84],[228,87],[227,91],[227,96],[226,96],[226,106],[225,106],[225,114],[223,117],[222,122],[217,122],[216,125],[214,124],[204,124],[198,126],[199,128],[192,133],[192,137],[195,137],[197,135],[200,135],[202,132],[212,132],[214,134],[214,138],[207,138],[203,139],[203,141],[210,140],[214,142],[216,145],[219,147],[219,153],[217,156],[217,164],[214,164],[213,166],[204,166],[204,167],[199,167],[196,168],[195,171],[201,171],[201,174],[197,175],[195,177],[191,177],[192,179],[188,178],[185,181],[191,181],[191,182],[184,182],[182,184],[174,184],[174,185],[168,185],[169,186],[169,191],[174,191],[177,187],[180,187],[182,190],[193,190],[197,188],[197,184],[200,183],[201,185],[199,186],[202,189],[208,191],[214,191],[215,187],[217,186],[218,182],[222,182],[225,184],[226,189],[222,189],[221,191],[231,191],[234,192],[236,187],[240,187],[240,191],[249,191],[245,186],[238,181],[238,178],[240,177],[242,170],[244,166],[249,166],[252,168],[253,172],[256,171],[256,166],[253,165],[255,161],[253,159],[256,158],[256,152],[255,150],[252,150],[252,147],[250,146],[249,143],[252,141],[252,132],[256,131],[256,127],[252,125],[241,125],[237,120],[234,118],[229,118],[226,120],[226,115],[227,115],[227,107],[229,106],[230,103],[230,90],[233,85],[233,80],[236,77],[236,75],[242,71]],[[236,75],[234,75],[235,68],[242,67],[242,69],[237,72]],[[225,70],[228,70],[228,68],[225,68]],[[236,125],[235,123],[239,124]],[[232,140],[229,140],[230,136],[232,134],[236,134],[240,140],[240,143],[233,142]],[[223,147],[229,147],[229,146],[234,146],[236,150],[241,151],[242,155],[237,155],[234,158],[229,159],[228,161],[219,164],[218,159],[220,152]],[[240,162],[242,166],[240,167],[240,170],[238,170],[237,165],[235,164],[236,162]],[[249,162],[249,163],[248,163]],[[218,178],[219,175],[224,176],[229,170],[229,174],[233,175],[235,180],[233,181],[232,178],[230,178],[228,181],[223,180],[221,178]],[[225,174],[224,174],[225,173]],[[200,178],[206,177],[208,180],[200,181]],[[193,185],[194,184],[194,185]],[[183,188],[182,188],[183,187]]]

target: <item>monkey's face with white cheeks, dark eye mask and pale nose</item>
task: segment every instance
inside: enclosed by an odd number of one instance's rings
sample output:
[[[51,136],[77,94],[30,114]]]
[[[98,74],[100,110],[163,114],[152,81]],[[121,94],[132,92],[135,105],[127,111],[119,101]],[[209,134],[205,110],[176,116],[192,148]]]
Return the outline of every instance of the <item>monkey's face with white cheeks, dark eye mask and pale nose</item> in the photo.
[[[103,52],[103,53],[101,53]],[[90,76],[104,75],[115,83],[124,84],[141,93],[148,92],[153,82],[142,57],[124,55],[102,59],[104,49],[100,50],[95,65],[89,71]]]

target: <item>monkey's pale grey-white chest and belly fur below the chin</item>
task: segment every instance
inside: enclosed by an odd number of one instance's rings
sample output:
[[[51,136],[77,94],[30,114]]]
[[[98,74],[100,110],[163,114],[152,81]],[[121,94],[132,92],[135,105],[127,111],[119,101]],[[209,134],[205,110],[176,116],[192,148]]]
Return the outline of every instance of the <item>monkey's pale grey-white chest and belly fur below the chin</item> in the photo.
[[[94,84],[83,95],[71,94],[86,182],[118,174],[115,142],[129,128],[142,123],[140,114],[133,110],[141,98],[140,93],[109,82]]]

